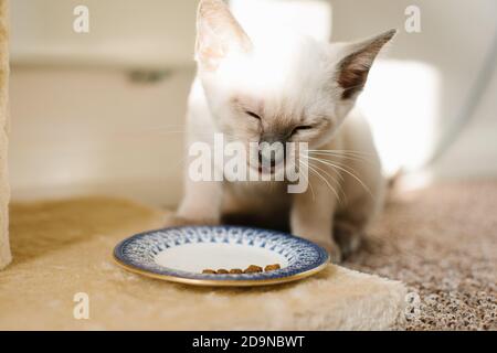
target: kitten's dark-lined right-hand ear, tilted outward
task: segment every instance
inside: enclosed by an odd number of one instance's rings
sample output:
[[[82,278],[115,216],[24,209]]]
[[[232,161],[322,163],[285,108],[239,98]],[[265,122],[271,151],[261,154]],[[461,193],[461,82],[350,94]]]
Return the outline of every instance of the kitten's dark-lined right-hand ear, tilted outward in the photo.
[[[345,46],[343,58],[337,68],[337,81],[343,89],[342,99],[355,98],[364,88],[374,60],[395,34],[396,30],[391,30],[372,39]]]

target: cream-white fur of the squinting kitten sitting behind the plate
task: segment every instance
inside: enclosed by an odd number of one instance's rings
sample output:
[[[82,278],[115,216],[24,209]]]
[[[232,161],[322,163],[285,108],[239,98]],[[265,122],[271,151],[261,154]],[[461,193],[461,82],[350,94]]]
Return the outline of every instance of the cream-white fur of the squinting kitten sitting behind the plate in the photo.
[[[314,156],[341,168],[311,164],[328,183],[310,171],[311,189],[303,194],[288,194],[282,182],[193,182],[187,176],[184,199],[168,225],[240,223],[233,218],[239,214],[251,225],[287,227],[319,243],[335,261],[355,250],[382,204],[384,183],[369,127],[348,115],[374,58],[394,34],[352,44],[308,38],[258,44],[223,1],[201,1],[188,142],[212,143],[214,132],[244,143],[267,133],[277,140],[297,128],[285,141],[335,150]]]

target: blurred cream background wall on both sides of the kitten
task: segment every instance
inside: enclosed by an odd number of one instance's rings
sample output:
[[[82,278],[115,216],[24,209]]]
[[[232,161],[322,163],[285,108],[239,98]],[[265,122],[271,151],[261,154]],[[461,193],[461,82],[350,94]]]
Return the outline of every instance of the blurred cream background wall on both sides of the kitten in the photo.
[[[11,1],[14,200],[103,193],[178,203],[197,4]],[[89,10],[88,33],[73,30],[78,6]],[[497,178],[495,0],[231,6],[248,34],[281,26],[352,41],[399,29],[358,103],[385,171],[402,169],[415,186]],[[409,33],[405,23],[416,10],[421,31]]]

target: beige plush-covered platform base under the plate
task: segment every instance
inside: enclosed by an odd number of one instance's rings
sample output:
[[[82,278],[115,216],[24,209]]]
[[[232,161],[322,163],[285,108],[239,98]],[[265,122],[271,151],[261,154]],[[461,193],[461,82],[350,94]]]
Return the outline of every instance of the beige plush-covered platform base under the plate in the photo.
[[[0,330],[383,330],[404,318],[402,284],[336,266],[255,289],[191,288],[117,268],[114,245],[162,217],[109,199],[13,205]],[[88,295],[89,320],[73,317],[78,292]]]

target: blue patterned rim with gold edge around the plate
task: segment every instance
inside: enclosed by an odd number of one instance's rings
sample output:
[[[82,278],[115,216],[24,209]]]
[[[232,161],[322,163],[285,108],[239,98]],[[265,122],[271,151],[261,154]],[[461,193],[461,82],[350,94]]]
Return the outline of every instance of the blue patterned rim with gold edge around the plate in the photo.
[[[181,272],[179,270],[175,269],[168,269],[163,267],[163,270],[155,270],[150,268],[145,268],[144,266],[139,266],[136,264],[130,264],[129,260],[126,259],[125,255],[123,254],[123,249],[126,246],[126,244],[129,244],[131,242],[135,242],[137,239],[140,239],[145,236],[157,234],[159,232],[171,232],[171,231],[180,231],[180,229],[202,229],[202,228],[223,228],[225,231],[228,229],[239,229],[239,231],[254,231],[254,232],[262,232],[262,233],[269,233],[283,237],[292,238],[296,242],[304,243],[307,246],[314,248],[318,256],[316,260],[314,261],[310,268],[307,270],[298,271],[293,275],[276,275],[272,276],[272,278],[256,278],[256,279],[233,279],[230,278],[231,276],[228,275],[203,275],[203,274],[194,274],[194,272],[183,272],[183,275],[178,275],[178,272]],[[167,280],[171,282],[178,282],[183,285],[193,285],[193,286],[209,286],[209,287],[255,287],[255,286],[268,286],[268,285],[279,285],[279,284],[286,284],[290,281],[296,281],[299,279],[304,279],[307,277],[310,277],[313,275],[316,275],[324,270],[328,264],[330,263],[330,256],[329,254],[319,245],[307,240],[305,238],[285,233],[285,232],[278,232],[278,231],[272,231],[272,229],[263,229],[257,227],[248,227],[248,226],[236,226],[236,225],[221,225],[221,226],[210,226],[210,225],[194,225],[194,226],[178,226],[178,227],[167,227],[167,228],[159,228],[148,232],[138,233],[136,235],[133,235],[130,237],[127,237],[119,242],[113,252],[113,259],[114,261],[120,266],[121,268],[138,274],[141,276],[146,276],[149,278],[155,279],[161,279]],[[173,274],[176,272],[176,274]],[[218,277],[218,278],[214,278]]]

